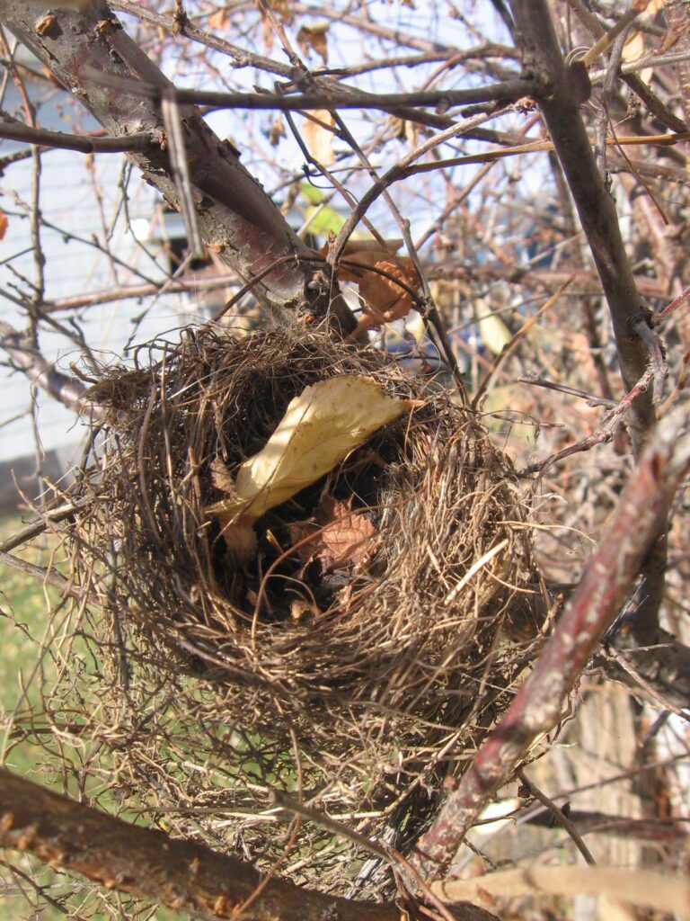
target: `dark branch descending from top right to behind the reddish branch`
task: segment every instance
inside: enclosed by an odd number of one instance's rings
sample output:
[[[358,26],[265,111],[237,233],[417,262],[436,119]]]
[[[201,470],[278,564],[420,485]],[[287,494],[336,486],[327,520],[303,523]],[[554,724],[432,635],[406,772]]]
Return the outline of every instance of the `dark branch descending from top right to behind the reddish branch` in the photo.
[[[581,119],[579,107],[588,92],[587,76],[578,65],[566,68],[545,0],[511,0],[511,8],[520,33],[526,72],[543,80],[539,107],[602,280],[621,371],[629,391],[647,369],[650,356],[644,336],[649,330],[649,318],[635,286],[614,200],[596,169]],[[654,421],[651,394],[641,393],[627,414],[636,456]]]

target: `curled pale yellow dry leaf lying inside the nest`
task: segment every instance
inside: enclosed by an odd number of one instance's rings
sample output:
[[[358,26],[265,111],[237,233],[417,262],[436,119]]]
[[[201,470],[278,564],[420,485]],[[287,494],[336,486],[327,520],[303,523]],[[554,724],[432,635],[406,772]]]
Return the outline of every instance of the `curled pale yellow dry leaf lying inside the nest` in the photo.
[[[234,482],[215,458],[213,485],[229,497],[206,507],[205,514],[221,526],[228,562],[244,565],[256,551],[253,526],[270,508],[316,483],[381,426],[418,405],[387,396],[372,378],[340,375],[305,387],[289,403],[266,446],[240,465]],[[337,521],[324,523],[328,537],[322,535],[322,543],[333,550]]]

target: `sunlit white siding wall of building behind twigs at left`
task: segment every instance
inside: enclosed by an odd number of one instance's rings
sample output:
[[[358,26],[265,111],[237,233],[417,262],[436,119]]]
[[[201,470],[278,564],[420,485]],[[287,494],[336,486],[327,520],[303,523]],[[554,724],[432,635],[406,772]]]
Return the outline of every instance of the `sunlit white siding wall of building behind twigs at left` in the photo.
[[[55,91],[50,103],[40,108],[41,127],[75,130],[74,125],[61,118],[63,96]],[[4,108],[12,111],[7,100]],[[88,130],[95,124],[80,127]],[[24,147],[0,141],[0,159]],[[46,222],[59,228],[40,228],[46,301],[103,291],[112,286],[142,284],[146,279],[159,283],[166,279],[167,257],[160,243],[148,241],[144,244],[155,254],[154,261],[128,228],[121,206],[123,164],[124,158],[119,154],[86,157],[72,151],[51,150],[41,155],[41,215]],[[0,321],[18,330],[27,325],[26,312],[11,297],[19,297],[20,292],[30,295],[30,283],[36,274],[28,216],[32,170],[29,158],[9,165],[0,177],[0,208],[8,220],[5,239],[0,241]],[[143,236],[152,226],[156,232],[155,216],[160,201],[136,170],[132,170],[127,195],[131,226]],[[129,268],[111,261],[105,252],[89,245],[92,239],[97,239],[101,245],[109,239],[111,251],[128,263]],[[143,302],[126,299],[80,309],[75,319],[98,360],[108,364],[121,360],[132,337],[134,343],[145,342],[190,321],[194,315],[194,302],[189,295],[164,294],[157,298],[147,297]],[[52,317],[69,329],[66,312],[56,312]],[[60,332],[45,332],[45,324],[41,324],[40,348],[58,367],[69,371],[70,363],[74,362],[88,372],[78,344]],[[6,356],[0,353],[0,361],[4,358]],[[0,368],[0,461],[26,456],[35,450],[34,426],[29,412],[9,421],[28,411],[30,402],[26,376],[8,367]],[[42,393],[38,394],[36,417],[40,443],[45,450],[75,445],[84,435],[84,426],[75,421],[75,414]]]

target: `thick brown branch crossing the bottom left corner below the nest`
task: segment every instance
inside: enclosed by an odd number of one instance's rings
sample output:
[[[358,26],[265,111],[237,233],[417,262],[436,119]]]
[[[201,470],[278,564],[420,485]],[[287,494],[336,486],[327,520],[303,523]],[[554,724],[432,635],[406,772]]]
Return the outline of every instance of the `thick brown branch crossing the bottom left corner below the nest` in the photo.
[[[117,889],[183,912],[234,917],[261,874],[204,845],[178,841],[90,809],[0,768],[0,845],[29,851]],[[399,921],[395,905],[348,902],[270,880],[247,921]]]

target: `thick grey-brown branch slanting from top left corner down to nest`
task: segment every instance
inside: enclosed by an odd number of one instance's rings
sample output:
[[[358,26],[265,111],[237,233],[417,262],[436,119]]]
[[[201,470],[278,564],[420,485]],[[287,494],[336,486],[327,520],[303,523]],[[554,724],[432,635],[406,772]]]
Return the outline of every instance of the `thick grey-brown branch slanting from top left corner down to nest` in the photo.
[[[178,206],[178,191],[167,156],[166,134],[155,103],[100,85],[89,74],[143,80],[161,89],[171,84],[132,41],[104,0],[83,12],[56,8],[50,28],[36,29],[36,8],[24,0],[6,0],[0,22],[40,58],[113,137],[150,134],[159,144],[149,153],[131,153],[144,179]],[[104,26],[104,23],[106,26]],[[189,163],[191,198],[206,246],[248,281],[283,262],[255,286],[255,294],[272,307],[304,303],[311,268],[299,262],[308,255],[268,195],[239,162],[235,148],[221,141],[192,107],[180,107]],[[294,256],[286,260],[285,256]],[[349,322],[351,321],[351,322]],[[353,318],[343,324],[354,327]]]

